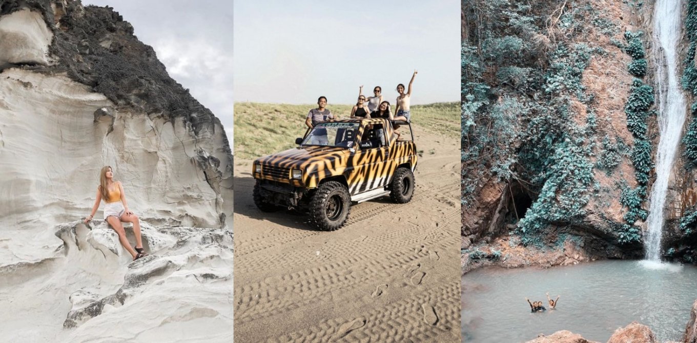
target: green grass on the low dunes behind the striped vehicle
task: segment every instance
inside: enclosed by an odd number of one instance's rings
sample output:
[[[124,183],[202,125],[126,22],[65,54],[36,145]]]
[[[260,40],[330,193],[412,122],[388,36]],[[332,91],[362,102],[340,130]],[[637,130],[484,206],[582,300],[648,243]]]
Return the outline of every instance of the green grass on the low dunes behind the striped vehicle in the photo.
[[[296,137],[305,135],[305,118],[316,105],[235,103],[235,157],[259,158],[296,146]],[[332,114],[346,119],[353,105],[330,105]],[[438,102],[411,106],[415,131],[425,129],[444,137],[460,137],[460,103]],[[418,142],[417,142],[418,144]]]

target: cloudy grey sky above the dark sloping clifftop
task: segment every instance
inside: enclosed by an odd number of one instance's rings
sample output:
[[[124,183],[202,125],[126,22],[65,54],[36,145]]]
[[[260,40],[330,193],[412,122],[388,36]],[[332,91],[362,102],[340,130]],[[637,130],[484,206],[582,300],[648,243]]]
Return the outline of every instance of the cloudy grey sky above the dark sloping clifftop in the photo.
[[[82,4],[113,7],[130,22],[138,39],[155,49],[169,76],[210,109],[232,139],[232,1],[82,0]]]

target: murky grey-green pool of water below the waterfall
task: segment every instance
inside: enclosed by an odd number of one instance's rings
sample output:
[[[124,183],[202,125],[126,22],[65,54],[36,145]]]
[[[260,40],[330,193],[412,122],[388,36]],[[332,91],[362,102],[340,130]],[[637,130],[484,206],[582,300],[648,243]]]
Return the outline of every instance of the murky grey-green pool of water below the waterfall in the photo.
[[[545,292],[560,295],[549,310]],[[546,312],[531,313],[531,301]],[[606,342],[632,321],[659,341],[680,341],[697,299],[697,267],[645,261],[596,261],[576,266],[483,268],[462,277],[464,342],[526,342],[558,330]]]

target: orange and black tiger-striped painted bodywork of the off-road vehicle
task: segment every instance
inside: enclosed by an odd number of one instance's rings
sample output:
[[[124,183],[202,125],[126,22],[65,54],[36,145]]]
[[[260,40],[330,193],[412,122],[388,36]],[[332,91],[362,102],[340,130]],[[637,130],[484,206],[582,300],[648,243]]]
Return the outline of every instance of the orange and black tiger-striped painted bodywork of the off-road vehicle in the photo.
[[[355,137],[357,143],[368,125],[383,125],[388,145],[360,148],[360,144],[354,144],[355,151],[345,147],[298,146],[255,160],[252,175],[307,190],[317,188],[326,178],[339,176],[346,181],[353,196],[388,185],[399,165],[408,165],[414,171],[417,163],[415,143],[392,139],[394,130],[387,120],[346,119],[339,122],[360,123]],[[261,173],[254,171],[257,164],[261,165]],[[293,169],[302,170],[302,180],[291,179]]]

